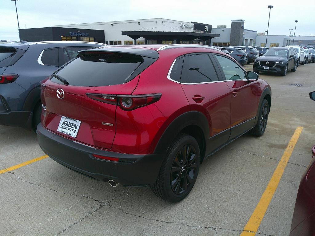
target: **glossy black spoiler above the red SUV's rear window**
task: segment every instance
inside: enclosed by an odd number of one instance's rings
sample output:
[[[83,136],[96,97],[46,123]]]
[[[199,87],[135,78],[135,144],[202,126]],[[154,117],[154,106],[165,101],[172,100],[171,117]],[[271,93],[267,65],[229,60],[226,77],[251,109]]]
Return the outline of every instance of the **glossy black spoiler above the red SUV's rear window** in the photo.
[[[89,53],[89,52],[111,52],[111,53],[127,53],[127,54],[134,54],[139,55],[142,57],[148,57],[152,59],[158,59],[159,54],[156,50],[146,49],[146,48],[129,48],[128,46],[120,46],[120,47],[101,47],[89,50],[82,50],[78,51],[79,56]]]

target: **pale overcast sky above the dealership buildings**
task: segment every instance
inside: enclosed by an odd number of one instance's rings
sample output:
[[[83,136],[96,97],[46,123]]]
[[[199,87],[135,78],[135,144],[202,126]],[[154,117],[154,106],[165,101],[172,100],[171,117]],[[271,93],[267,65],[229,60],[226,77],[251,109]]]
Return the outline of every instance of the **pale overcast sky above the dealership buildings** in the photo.
[[[48,27],[77,23],[116,20],[166,18],[195,21],[212,25],[227,25],[231,20],[245,20],[245,29],[267,30],[271,9],[269,35],[289,35],[298,20],[295,35],[315,35],[315,2],[304,0],[301,4],[291,0],[272,1],[105,1],[105,0],[19,0],[17,3],[20,28]],[[0,39],[18,40],[18,25],[14,2],[0,0]],[[130,29],[132,30],[132,29]],[[293,32],[292,32],[293,34]]]

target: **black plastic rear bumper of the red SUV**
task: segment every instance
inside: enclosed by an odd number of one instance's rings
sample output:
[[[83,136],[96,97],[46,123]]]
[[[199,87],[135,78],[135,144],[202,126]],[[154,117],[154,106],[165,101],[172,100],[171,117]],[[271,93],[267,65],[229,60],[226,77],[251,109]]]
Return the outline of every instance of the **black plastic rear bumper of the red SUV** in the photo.
[[[74,142],[37,126],[37,138],[41,149],[54,161],[99,181],[114,180],[123,186],[153,184],[160,171],[163,155],[123,154]],[[96,159],[92,154],[130,159],[130,162],[114,162]]]

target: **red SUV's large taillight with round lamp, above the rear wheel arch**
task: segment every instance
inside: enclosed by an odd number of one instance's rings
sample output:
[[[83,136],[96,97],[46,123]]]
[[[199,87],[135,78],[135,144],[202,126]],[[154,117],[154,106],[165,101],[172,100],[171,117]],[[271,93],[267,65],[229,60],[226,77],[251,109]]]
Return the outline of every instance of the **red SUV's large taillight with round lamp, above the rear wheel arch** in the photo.
[[[130,111],[157,102],[160,100],[162,93],[145,95],[108,95],[87,93],[86,95],[94,100],[119,105],[121,109]]]

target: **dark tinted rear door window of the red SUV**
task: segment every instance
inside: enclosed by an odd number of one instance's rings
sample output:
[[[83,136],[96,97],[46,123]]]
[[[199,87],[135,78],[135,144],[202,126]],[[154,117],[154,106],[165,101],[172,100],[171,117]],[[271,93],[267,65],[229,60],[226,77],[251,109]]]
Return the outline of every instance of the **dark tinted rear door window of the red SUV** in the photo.
[[[181,83],[218,81],[214,66],[207,54],[189,55],[184,58]]]

